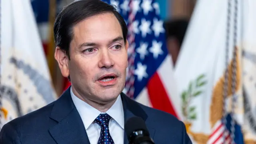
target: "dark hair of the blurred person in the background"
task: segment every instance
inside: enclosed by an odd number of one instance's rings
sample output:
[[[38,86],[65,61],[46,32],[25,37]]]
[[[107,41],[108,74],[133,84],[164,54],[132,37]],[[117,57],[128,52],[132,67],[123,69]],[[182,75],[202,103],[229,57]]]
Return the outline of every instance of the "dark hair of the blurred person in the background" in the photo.
[[[188,20],[174,19],[164,22],[166,38],[175,37],[181,45],[188,27]]]

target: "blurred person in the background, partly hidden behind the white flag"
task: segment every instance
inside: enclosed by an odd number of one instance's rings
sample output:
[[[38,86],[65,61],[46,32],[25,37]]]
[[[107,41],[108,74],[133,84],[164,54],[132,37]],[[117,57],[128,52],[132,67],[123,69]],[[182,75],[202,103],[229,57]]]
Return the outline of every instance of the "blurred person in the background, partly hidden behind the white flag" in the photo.
[[[166,21],[164,24],[166,30],[166,45],[169,54],[172,56],[173,66],[175,67],[182,41],[188,27],[188,20],[177,19]]]

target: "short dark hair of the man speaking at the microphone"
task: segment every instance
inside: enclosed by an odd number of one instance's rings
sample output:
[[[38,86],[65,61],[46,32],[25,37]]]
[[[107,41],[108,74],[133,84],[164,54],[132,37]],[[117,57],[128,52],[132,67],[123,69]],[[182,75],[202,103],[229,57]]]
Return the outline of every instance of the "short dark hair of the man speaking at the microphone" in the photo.
[[[124,18],[116,11],[114,6],[101,0],[78,0],[64,7],[54,22],[54,41],[56,46],[59,46],[70,59],[69,47],[74,36],[73,26],[86,18],[106,12],[111,12],[116,16],[121,25],[124,42],[126,43],[128,29]]]

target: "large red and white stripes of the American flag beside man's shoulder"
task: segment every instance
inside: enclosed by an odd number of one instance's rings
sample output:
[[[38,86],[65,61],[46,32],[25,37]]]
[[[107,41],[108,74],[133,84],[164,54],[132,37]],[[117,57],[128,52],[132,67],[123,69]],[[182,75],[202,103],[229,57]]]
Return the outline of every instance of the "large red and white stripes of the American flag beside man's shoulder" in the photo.
[[[163,110],[182,120],[181,98],[178,96],[171,56],[166,56],[148,85],[136,98],[146,106]]]

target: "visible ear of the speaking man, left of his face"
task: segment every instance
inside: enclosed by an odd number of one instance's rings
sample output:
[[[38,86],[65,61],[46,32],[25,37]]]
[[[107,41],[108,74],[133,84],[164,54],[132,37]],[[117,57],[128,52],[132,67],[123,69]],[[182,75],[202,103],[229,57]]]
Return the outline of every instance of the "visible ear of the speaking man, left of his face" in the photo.
[[[69,76],[68,56],[58,46],[55,49],[54,58],[58,62],[62,76],[68,77]]]

